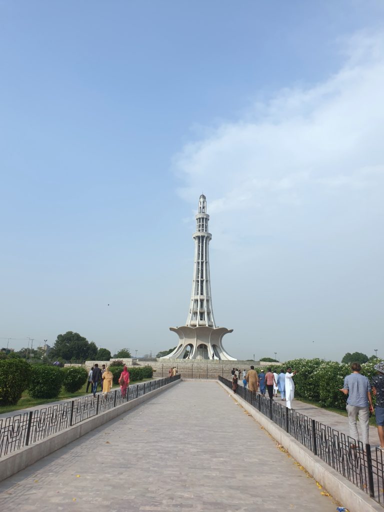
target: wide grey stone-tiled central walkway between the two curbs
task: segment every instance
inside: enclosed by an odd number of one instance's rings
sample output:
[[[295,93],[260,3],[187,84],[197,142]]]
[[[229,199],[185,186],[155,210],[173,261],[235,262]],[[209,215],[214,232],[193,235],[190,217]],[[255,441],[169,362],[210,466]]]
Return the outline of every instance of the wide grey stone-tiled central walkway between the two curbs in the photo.
[[[181,382],[0,483],[28,512],[335,511],[217,382]]]

